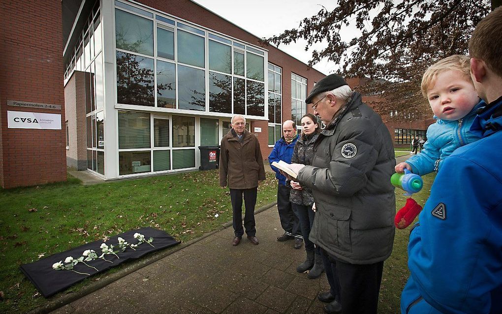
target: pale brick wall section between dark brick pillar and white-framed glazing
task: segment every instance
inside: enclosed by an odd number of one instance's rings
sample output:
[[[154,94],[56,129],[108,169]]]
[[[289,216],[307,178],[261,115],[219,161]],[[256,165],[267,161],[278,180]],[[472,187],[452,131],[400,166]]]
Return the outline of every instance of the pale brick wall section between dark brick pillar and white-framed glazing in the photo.
[[[72,169],[87,169],[87,139],[85,132],[85,73],[74,71],[66,83],[65,115],[68,121],[69,143],[66,149],[66,165]]]

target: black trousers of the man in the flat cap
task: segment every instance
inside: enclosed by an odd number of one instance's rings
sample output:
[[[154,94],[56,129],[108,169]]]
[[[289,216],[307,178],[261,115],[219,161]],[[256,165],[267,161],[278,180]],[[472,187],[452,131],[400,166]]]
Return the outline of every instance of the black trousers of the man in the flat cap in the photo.
[[[321,249],[331,294],[337,296],[343,314],[376,314],[384,262],[349,264]]]

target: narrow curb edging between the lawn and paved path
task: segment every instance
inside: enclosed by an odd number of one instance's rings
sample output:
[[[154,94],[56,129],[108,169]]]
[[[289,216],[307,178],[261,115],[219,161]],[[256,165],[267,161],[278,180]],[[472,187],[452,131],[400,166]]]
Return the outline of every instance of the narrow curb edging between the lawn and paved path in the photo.
[[[269,208],[275,206],[276,204],[277,204],[277,202],[272,202],[272,203],[268,203],[268,204],[265,204],[265,205],[259,207],[257,210],[255,210],[255,215],[268,210]],[[158,251],[157,254],[154,253],[153,255],[151,255],[149,257],[142,258],[141,260],[139,260],[137,262],[133,262],[132,265],[124,267],[123,269],[120,269],[111,275],[107,275],[105,277],[100,278],[99,280],[95,280],[93,282],[90,282],[89,284],[87,284],[85,287],[83,287],[82,289],[80,289],[77,292],[71,292],[71,293],[59,296],[54,300],[50,300],[47,303],[32,309],[28,313],[29,314],[49,313],[49,312],[56,310],[64,305],[67,305],[67,304],[69,304],[79,298],[82,298],[82,297],[86,296],[87,294],[90,294],[96,290],[99,290],[99,289],[103,288],[104,286],[106,286],[106,285],[108,285],[108,284],[110,284],[110,283],[112,283],[122,277],[129,275],[130,273],[133,273],[137,270],[140,270],[141,268],[143,268],[145,266],[148,266],[152,263],[155,263],[158,260],[160,260],[166,256],[169,256],[175,252],[178,252],[179,250],[183,250],[184,248],[186,248],[186,247],[188,247],[188,246],[190,246],[190,245],[192,245],[202,239],[205,239],[205,238],[207,238],[217,232],[220,232],[221,230],[224,230],[228,227],[231,227],[231,226],[232,226],[231,221],[226,222],[226,223],[222,224],[220,228],[213,230],[211,232],[208,232],[198,238],[192,239],[192,240],[185,242],[185,243],[180,243],[179,245],[177,245],[173,248],[168,248],[164,251]],[[64,293],[64,292],[62,292],[62,293]]]

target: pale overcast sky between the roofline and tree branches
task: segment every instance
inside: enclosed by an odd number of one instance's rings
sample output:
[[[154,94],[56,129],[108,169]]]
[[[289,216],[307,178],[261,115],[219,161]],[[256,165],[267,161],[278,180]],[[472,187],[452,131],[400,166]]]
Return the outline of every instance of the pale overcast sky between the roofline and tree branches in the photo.
[[[300,21],[319,12],[322,7],[332,10],[336,2],[329,0],[192,0],[232,22],[240,28],[262,38],[281,34],[284,30],[297,28]],[[194,21],[196,22],[196,21]],[[315,46],[318,50],[327,44]],[[311,52],[305,51],[305,41],[280,45],[279,49],[298,60],[307,63]],[[333,62],[321,61],[313,66],[316,70],[330,74],[337,70]]]

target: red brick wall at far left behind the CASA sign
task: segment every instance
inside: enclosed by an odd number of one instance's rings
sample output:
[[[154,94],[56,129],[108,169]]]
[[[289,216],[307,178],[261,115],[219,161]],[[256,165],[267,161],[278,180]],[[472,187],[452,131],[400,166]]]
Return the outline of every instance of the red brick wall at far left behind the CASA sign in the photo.
[[[61,2],[0,2],[0,184],[66,180]],[[59,104],[59,110],[7,106],[7,100]],[[61,130],[8,129],[7,111],[61,114]]]

